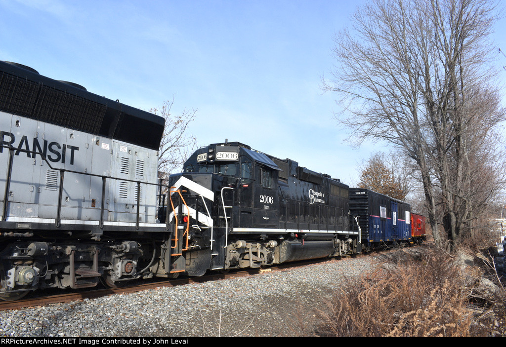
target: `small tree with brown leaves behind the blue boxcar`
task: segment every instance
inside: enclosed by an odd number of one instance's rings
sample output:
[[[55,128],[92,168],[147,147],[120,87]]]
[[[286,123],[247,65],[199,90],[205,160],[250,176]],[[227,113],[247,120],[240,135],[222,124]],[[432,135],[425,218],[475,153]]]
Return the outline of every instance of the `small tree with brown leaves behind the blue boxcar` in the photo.
[[[405,171],[401,169],[399,163],[392,162],[385,153],[374,153],[362,164],[358,186],[405,200],[409,183]]]

